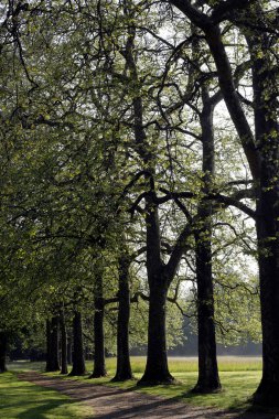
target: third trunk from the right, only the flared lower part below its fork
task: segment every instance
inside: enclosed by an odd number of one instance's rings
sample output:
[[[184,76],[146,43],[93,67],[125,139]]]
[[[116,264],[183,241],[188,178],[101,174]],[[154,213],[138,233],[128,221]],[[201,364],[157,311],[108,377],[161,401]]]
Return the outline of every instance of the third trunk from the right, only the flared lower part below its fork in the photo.
[[[168,286],[154,281],[150,284],[148,358],[139,385],[171,384],[174,378],[169,372],[165,339],[165,305]]]

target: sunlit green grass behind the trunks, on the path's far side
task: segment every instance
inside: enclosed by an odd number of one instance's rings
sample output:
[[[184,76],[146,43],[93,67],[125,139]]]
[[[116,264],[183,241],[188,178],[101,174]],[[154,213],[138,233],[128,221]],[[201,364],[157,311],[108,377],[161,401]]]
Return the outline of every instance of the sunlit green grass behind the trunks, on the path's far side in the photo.
[[[131,357],[132,370],[136,378],[140,378],[143,373],[146,358]],[[105,384],[108,386],[120,387],[122,389],[131,389],[143,391],[151,395],[158,395],[174,400],[190,402],[195,406],[211,406],[219,409],[243,409],[249,407],[248,398],[256,390],[261,376],[261,361],[258,357],[236,357],[224,356],[218,359],[219,376],[222,380],[223,391],[212,395],[194,395],[190,393],[197,378],[197,359],[190,358],[170,358],[169,366],[171,373],[179,380],[179,384],[171,386],[136,386],[135,380],[127,383],[110,383],[115,373],[116,359],[107,359],[108,377],[90,380],[93,384]],[[86,363],[88,372],[92,370],[93,362]],[[41,369],[42,363],[13,363],[10,368],[13,369]],[[71,379],[66,377],[66,379]],[[76,379],[76,378],[75,378]],[[88,380],[86,377],[79,377],[81,380]]]

